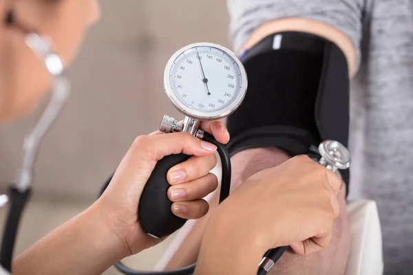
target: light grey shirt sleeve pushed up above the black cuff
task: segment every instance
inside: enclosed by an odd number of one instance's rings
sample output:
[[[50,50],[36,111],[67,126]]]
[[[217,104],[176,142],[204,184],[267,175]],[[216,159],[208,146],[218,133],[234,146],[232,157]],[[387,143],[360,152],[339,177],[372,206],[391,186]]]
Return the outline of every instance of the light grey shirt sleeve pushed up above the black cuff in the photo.
[[[362,11],[365,0],[228,0],[231,38],[240,50],[262,23],[283,17],[313,19],[337,28],[348,36],[360,60]]]

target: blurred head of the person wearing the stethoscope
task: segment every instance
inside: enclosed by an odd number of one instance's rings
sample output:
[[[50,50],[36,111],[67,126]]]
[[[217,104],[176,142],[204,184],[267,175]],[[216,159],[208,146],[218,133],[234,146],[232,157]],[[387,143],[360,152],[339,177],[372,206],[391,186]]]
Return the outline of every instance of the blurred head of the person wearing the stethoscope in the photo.
[[[52,84],[25,34],[47,36],[67,67],[99,17],[96,0],[0,0],[0,123],[30,113]]]

